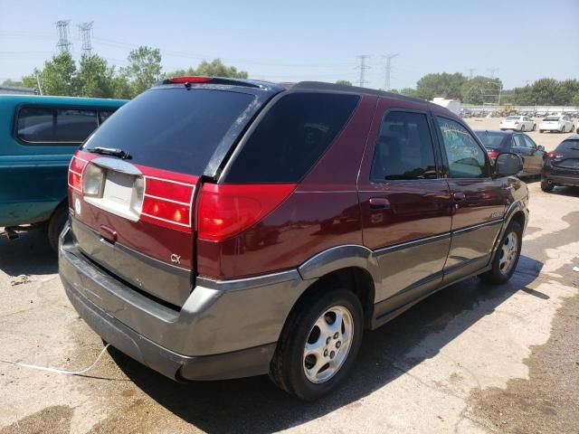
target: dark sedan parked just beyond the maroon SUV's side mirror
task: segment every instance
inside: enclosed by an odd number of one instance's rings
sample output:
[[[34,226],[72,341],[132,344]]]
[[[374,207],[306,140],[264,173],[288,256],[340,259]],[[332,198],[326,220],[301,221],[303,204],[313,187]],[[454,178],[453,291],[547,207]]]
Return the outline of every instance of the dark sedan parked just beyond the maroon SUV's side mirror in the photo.
[[[475,131],[482,144],[487,148],[490,158],[494,161],[498,154],[512,152],[523,159],[523,170],[519,176],[540,175],[545,164],[546,151],[544,146],[536,145],[531,137],[516,131]]]

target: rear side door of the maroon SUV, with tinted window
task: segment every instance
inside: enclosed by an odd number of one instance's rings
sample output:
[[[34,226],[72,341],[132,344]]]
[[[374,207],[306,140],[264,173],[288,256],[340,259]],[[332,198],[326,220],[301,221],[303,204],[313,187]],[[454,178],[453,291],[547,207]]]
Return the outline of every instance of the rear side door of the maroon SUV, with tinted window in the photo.
[[[437,288],[450,247],[451,196],[430,114],[425,104],[392,104],[379,100],[358,177],[364,243],[381,272],[378,319]]]

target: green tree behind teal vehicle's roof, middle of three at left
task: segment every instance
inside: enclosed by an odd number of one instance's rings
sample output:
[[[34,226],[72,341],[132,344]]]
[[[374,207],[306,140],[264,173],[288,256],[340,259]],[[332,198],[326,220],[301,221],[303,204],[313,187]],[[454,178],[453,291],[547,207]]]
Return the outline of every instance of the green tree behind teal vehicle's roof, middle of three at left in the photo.
[[[76,76],[76,89],[79,97],[113,98],[115,96],[113,76],[114,67],[97,54],[83,54]]]

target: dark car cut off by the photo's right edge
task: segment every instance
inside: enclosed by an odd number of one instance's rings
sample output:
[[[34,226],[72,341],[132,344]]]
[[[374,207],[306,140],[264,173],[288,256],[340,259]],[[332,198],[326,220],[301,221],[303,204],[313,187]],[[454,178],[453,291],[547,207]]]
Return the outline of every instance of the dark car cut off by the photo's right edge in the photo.
[[[546,155],[541,189],[551,192],[556,185],[579,185],[579,135],[566,138]]]

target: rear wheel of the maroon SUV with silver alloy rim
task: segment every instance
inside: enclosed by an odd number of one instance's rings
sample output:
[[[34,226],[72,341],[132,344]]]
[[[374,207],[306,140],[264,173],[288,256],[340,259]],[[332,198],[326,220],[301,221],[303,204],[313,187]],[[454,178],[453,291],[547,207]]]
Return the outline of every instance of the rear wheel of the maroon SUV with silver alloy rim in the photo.
[[[281,332],[270,378],[304,401],[314,401],[346,378],[362,343],[360,300],[344,288],[305,297]]]

